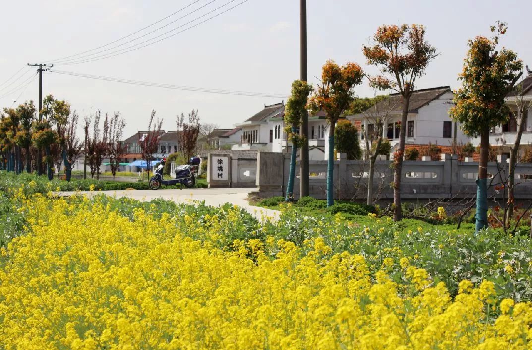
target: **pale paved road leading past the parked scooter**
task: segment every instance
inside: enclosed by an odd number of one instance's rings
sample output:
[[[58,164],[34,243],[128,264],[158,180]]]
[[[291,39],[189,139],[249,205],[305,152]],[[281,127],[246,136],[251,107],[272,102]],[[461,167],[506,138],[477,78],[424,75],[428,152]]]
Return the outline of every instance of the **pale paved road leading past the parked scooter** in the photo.
[[[176,203],[187,203],[190,201],[205,201],[209,206],[218,207],[221,204],[231,203],[246,209],[250,214],[258,219],[271,217],[274,220],[279,218],[279,211],[254,207],[247,201],[250,192],[255,188],[220,188],[220,189],[160,189],[152,190],[126,190],[126,191],[94,191],[81,193],[90,195],[105,193],[113,197],[129,197],[140,201],[150,201],[155,198],[173,200]],[[61,192],[61,195],[71,195],[74,192]]]

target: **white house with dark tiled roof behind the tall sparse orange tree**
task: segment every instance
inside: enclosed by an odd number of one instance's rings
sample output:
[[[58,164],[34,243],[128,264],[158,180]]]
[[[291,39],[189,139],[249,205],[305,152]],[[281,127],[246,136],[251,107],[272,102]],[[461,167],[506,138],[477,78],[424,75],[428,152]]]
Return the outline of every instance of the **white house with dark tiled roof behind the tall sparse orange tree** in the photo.
[[[406,118],[406,146],[432,143],[446,147],[451,146],[454,138],[459,144],[469,142],[469,137],[460,130],[460,125],[453,122],[449,116],[449,109],[453,106],[452,99],[453,92],[448,86],[412,92]],[[393,152],[399,143],[402,109],[402,96],[392,93],[388,99],[380,101],[364,113],[347,116],[347,119],[360,127],[360,144],[364,149],[364,130],[368,130],[368,134],[374,134],[376,120],[387,115],[382,132],[392,144]]]

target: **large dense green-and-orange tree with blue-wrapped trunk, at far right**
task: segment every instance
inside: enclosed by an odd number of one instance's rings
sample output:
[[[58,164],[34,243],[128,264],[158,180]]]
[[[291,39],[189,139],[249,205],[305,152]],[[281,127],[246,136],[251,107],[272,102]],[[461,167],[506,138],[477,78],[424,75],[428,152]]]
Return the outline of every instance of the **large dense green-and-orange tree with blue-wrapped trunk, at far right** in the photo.
[[[454,95],[451,117],[460,122],[463,132],[480,136],[480,159],[477,177],[476,232],[488,226],[487,178],[489,160],[489,129],[508,121],[510,109],[504,97],[521,76],[522,62],[512,50],[495,51],[506,32],[506,23],[491,28],[492,38],[478,36],[469,40],[459,80],[462,86]],[[513,167],[513,164],[511,164]],[[513,169],[512,169],[513,176]]]

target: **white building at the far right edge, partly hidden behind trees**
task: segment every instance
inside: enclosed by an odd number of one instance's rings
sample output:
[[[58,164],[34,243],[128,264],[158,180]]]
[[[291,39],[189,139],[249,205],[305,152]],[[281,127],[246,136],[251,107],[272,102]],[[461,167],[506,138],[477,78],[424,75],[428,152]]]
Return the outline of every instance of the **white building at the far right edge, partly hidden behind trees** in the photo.
[[[522,103],[525,106],[530,106],[532,101],[532,71],[529,71],[528,67],[527,77],[519,84],[521,85],[519,87],[519,95],[522,94]],[[506,154],[506,156],[509,157],[510,149],[516,142],[517,121],[515,115],[518,114],[518,110],[520,109],[518,106],[521,103],[521,98],[516,97],[516,91],[514,90],[505,97],[505,100],[506,104],[513,112],[510,112],[507,123],[492,128],[491,133],[489,134],[489,144],[497,148],[499,153]],[[527,116],[525,118],[525,126],[521,135],[521,149],[522,145],[532,143],[532,108],[529,108],[525,113]],[[472,138],[471,143],[478,146],[480,144],[480,138]],[[522,150],[520,150],[519,153],[522,153]]]

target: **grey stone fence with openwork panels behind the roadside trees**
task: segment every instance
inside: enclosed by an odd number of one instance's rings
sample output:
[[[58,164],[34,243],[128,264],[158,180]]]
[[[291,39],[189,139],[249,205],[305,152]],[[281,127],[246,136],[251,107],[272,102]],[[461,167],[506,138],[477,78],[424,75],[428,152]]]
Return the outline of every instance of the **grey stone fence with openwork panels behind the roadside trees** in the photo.
[[[212,156],[210,155],[209,161]],[[214,184],[213,168],[209,164],[210,185],[231,187],[258,187],[257,197],[284,195],[288,183],[290,155],[287,153],[259,152],[257,159],[230,158],[230,176],[223,183]],[[401,179],[401,197],[404,199],[448,199],[464,198],[476,195],[475,180],[478,163],[458,161],[456,156],[442,155],[440,160],[423,157],[420,161],[404,161]],[[377,160],[373,178],[373,194],[380,199],[393,198],[390,183],[393,182],[393,170],[390,161]],[[310,195],[326,198],[327,161],[310,161]],[[296,165],[296,174],[300,171]],[[493,185],[500,184],[508,177],[508,163],[505,156],[498,156],[497,162],[488,164],[489,176]],[[346,160],[343,153],[334,162],[334,186],[337,199],[364,199],[367,196],[369,161]],[[516,165],[516,199],[532,199],[532,164]],[[489,182],[488,182],[489,183]],[[294,182],[294,197],[299,197],[300,178]],[[493,194],[495,186],[489,189]]]

